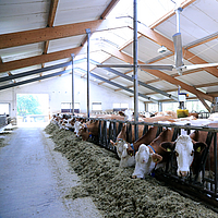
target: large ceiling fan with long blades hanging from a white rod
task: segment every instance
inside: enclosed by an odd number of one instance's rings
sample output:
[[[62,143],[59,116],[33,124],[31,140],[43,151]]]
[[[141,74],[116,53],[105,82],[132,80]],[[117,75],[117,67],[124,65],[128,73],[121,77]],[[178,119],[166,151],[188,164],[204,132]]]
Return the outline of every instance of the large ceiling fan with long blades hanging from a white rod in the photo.
[[[160,70],[160,71],[172,71],[175,69],[179,75],[182,75],[182,72],[195,69],[203,69],[209,66],[217,66],[218,63],[203,63],[203,64],[191,64],[184,65],[183,56],[182,56],[182,37],[180,33],[180,12],[182,12],[182,8],[178,8],[175,10],[177,14],[177,33],[172,36],[173,45],[174,45],[174,64],[138,64],[137,66],[141,69],[148,70]],[[133,64],[100,64],[98,68],[133,68]]]

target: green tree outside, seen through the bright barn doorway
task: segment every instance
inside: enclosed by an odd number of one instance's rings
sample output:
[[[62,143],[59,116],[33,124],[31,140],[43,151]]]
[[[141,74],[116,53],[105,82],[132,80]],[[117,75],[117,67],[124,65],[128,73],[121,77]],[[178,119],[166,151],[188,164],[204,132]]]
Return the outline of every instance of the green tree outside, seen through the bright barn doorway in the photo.
[[[17,95],[17,116],[24,117],[27,114],[43,114],[43,111],[38,108],[40,104],[37,96]]]

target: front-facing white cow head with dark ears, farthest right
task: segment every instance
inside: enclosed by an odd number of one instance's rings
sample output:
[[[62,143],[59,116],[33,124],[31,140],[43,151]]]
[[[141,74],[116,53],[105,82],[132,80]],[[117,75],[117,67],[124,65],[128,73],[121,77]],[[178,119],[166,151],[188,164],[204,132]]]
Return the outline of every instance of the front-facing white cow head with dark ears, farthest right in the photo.
[[[179,177],[187,177],[194,158],[206,147],[205,143],[194,142],[190,135],[180,135],[175,142],[166,142],[161,148],[166,152],[174,150]]]

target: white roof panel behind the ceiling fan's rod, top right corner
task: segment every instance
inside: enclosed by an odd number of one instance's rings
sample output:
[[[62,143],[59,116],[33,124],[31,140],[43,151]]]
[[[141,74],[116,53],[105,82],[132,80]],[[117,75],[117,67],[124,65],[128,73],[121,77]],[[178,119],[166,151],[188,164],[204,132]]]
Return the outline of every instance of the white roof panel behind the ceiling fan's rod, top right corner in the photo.
[[[183,46],[213,34],[218,28],[218,23],[214,19],[214,16],[217,16],[217,12],[211,10],[213,8],[218,8],[218,2],[211,0],[209,4],[204,2],[204,5],[199,2],[204,1],[196,1],[194,4],[189,5],[181,12],[180,28]],[[209,13],[205,13],[205,10]],[[175,15],[173,15],[157,26],[156,29],[172,39],[172,35],[177,33],[175,22],[177,19]]]

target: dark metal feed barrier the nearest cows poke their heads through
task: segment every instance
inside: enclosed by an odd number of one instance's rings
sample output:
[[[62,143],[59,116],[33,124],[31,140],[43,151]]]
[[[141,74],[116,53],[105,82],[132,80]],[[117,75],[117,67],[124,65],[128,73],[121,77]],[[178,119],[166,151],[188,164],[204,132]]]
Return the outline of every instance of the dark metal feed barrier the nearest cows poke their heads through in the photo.
[[[218,211],[218,166],[217,166],[217,133],[218,128],[206,128],[206,126],[193,126],[193,125],[175,125],[175,124],[160,124],[160,123],[145,123],[145,122],[126,122],[119,120],[105,120],[105,119],[95,119],[95,118],[85,118],[86,121],[99,121],[98,124],[98,136],[92,136],[90,141],[110,152],[117,154],[116,148],[110,144],[110,140],[116,142],[118,134],[120,133],[123,123],[126,123],[126,137],[128,142],[132,143],[132,128],[143,125],[145,134],[148,131],[148,126],[158,126],[157,136],[160,134],[164,128],[172,128],[173,135],[172,142],[177,140],[177,137],[182,133],[182,131],[186,131],[186,134],[190,134],[192,131],[205,131],[207,132],[206,144],[208,147],[204,149],[202,155],[201,165],[198,168],[198,172],[202,171],[202,177],[199,179],[199,173],[193,175],[192,173],[182,179],[177,175],[177,162],[174,152],[171,152],[171,159],[167,162],[165,170],[155,170],[155,178],[165,181],[166,184],[170,185],[172,189],[177,190],[183,195],[189,195],[193,198],[198,198],[208,206],[213,206],[213,209]],[[137,138],[135,136],[135,138]],[[214,144],[211,141],[214,138]],[[209,166],[209,170],[205,171],[205,164],[207,158],[209,157],[209,146],[214,146],[214,157],[215,157],[215,173],[210,171],[211,166]],[[192,170],[191,170],[192,171]],[[217,209],[216,209],[217,208]]]

